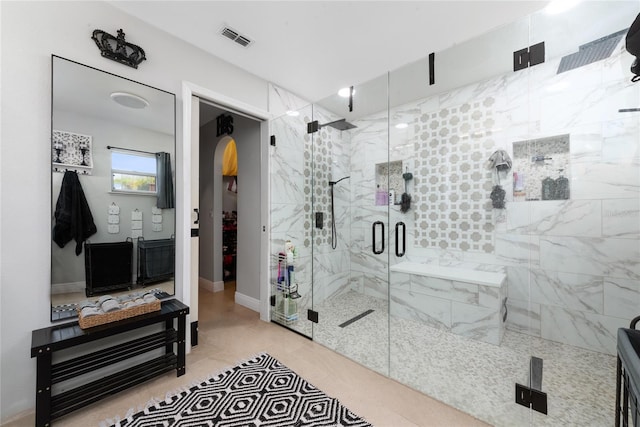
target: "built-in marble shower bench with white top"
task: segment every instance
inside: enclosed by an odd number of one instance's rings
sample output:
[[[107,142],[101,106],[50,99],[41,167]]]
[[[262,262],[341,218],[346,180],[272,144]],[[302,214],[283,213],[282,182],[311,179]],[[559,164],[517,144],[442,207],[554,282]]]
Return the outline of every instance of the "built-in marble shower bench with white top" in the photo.
[[[507,275],[482,268],[410,261],[391,266],[391,314],[499,345]]]

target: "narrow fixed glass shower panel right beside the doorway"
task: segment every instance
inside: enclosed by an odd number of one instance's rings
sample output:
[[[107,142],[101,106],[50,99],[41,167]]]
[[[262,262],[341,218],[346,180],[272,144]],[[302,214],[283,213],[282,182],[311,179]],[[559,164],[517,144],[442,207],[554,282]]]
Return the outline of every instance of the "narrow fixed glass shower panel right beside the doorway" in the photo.
[[[312,337],[307,310],[313,307],[310,193],[312,105],[270,122],[276,145],[270,152],[271,320]]]

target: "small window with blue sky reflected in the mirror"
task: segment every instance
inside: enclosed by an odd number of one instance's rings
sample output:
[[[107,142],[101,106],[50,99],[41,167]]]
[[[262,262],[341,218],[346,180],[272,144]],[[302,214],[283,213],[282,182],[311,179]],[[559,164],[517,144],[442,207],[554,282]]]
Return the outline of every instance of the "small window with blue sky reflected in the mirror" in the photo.
[[[113,151],[111,153],[111,191],[155,195],[155,155]]]

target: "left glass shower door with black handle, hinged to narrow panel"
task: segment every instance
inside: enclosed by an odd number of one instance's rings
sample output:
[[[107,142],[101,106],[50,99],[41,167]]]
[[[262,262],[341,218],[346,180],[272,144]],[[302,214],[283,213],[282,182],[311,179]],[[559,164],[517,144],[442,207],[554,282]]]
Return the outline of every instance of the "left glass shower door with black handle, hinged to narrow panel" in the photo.
[[[386,375],[387,76],[346,95],[313,106],[313,339]]]

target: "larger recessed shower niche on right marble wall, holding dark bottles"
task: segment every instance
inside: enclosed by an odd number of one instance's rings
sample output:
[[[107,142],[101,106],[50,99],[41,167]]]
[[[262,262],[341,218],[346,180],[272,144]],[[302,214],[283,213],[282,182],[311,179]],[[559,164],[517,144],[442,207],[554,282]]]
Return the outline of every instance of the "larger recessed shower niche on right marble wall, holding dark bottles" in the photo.
[[[513,201],[570,198],[569,134],[513,143]]]

